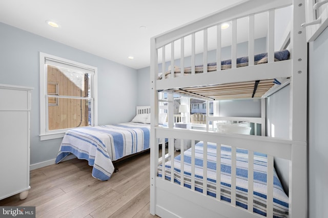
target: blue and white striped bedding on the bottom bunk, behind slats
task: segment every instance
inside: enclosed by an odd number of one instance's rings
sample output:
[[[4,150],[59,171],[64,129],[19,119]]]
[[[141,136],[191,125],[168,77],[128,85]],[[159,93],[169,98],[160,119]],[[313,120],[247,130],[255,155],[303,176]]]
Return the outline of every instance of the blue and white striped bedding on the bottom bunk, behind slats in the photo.
[[[191,149],[184,153],[184,186],[191,188]],[[207,194],[216,197],[216,145],[208,143]],[[180,158],[174,159],[174,181],[180,184]],[[248,151],[237,149],[236,159],[236,205],[247,209],[248,191]],[[267,155],[254,152],[254,207],[255,213],[266,216],[267,199]],[[171,180],[171,161],[166,162],[165,177]],[[162,177],[162,166],[158,167],[158,176]],[[195,145],[195,190],[202,192],[203,184],[203,143]],[[274,172],[274,217],[288,217],[288,196]],[[221,146],[221,200],[231,200],[231,147]]]

